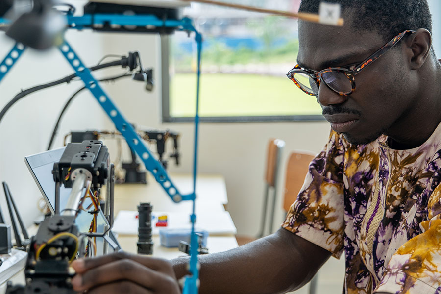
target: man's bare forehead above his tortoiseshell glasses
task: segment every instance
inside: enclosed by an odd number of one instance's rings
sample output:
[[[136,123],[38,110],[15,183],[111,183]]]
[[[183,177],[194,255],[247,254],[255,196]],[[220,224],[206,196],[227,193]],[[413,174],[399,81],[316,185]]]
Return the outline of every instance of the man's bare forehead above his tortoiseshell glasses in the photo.
[[[301,66],[316,71],[344,66],[363,61],[383,42],[378,33],[358,31],[349,25],[337,27],[299,21],[297,60]]]

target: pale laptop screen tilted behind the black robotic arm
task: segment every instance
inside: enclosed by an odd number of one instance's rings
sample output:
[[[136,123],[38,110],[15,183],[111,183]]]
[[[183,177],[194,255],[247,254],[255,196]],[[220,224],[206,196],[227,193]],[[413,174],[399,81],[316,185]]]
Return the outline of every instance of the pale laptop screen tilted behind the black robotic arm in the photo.
[[[44,199],[48,203],[52,214],[54,213],[55,207],[55,181],[53,180],[52,169],[53,164],[60,160],[64,149],[65,147],[61,147],[25,157],[26,166],[37,183]],[[71,190],[71,188],[65,188],[63,184],[60,185],[60,211],[63,211],[66,207]],[[90,198],[86,198],[83,201],[82,207],[86,209],[91,206],[91,204],[92,201]],[[89,210],[94,210],[93,206]],[[80,210],[80,213],[75,219],[75,223],[81,233],[89,232],[92,218],[92,214],[85,210]],[[106,220],[104,214],[100,211],[97,217],[97,233],[104,232],[105,223]],[[113,234],[111,234],[111,237],[116,242],[116,238]],[[97,254],[102,254],[102,238],[97,238]]]

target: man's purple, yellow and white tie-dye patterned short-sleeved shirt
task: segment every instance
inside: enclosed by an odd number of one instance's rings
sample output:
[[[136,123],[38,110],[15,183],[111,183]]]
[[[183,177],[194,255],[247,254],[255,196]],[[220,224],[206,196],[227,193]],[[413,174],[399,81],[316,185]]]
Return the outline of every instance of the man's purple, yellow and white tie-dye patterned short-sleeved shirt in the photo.
[[[331,131],[282,227],[339,258],[345,294],[441,294],[441,123],[420,147]]]

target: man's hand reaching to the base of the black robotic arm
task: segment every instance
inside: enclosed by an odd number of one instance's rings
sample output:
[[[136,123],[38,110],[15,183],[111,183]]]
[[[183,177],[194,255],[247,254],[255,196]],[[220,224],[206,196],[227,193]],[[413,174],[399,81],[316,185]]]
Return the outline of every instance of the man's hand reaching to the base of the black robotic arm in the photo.
[[[75,260],[75,291],[89,294],[180,294],[172,265],[164,259],[125,252]]]

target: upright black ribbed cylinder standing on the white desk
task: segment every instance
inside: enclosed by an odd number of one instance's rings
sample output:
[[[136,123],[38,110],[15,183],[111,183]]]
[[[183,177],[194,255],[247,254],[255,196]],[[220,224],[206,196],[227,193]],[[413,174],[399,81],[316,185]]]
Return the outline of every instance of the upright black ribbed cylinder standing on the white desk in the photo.
[[[138,205],[138,254],[153,254],[151,240],[151,209],[150,203]]]

